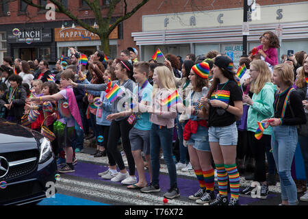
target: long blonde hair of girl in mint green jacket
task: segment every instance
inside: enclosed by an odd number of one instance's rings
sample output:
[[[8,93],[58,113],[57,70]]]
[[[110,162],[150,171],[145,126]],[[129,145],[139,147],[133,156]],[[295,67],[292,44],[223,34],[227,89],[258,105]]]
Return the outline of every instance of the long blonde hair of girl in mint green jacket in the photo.
[[[259,94],[265,83],[270,82],[272,74],[270,73],[270,68],[268,68],[268,65],[262,60],[255,60],[251,62],[251,66],[255,67],[255,70],[259,71],[257,79],[251,83],[251,92],[254,94]]]

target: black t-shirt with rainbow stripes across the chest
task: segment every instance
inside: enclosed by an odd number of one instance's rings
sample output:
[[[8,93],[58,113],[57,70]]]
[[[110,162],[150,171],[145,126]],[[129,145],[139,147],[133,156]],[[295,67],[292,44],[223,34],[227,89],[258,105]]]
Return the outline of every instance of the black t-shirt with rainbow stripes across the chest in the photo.
[[[234,101],[242,101],[242,90],[235,81],[219,83],[218,88],[211,94],[211,100],[215,99],[234,106]],[[234,114],[227,112],[222,107],[209,105],[209,127],[224,127],[232,125],[235,121]]]

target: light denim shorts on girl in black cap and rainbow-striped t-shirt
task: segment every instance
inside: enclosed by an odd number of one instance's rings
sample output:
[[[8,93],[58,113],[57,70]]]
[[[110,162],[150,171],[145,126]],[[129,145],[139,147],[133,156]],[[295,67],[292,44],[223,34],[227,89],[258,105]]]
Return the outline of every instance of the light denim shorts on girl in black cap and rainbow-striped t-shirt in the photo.
[[[209,142],[219,142],[222,145],[238,144],[238,128],[236,123],[223,127],[209,127]]]

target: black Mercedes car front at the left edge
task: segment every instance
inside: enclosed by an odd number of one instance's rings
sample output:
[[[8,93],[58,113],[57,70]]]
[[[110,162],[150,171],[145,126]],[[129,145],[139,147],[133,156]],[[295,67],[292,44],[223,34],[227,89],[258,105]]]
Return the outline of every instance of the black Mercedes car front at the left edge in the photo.
[[[38,203],[53,193],[56,172],[47,138],[0,118],[0,205]]]

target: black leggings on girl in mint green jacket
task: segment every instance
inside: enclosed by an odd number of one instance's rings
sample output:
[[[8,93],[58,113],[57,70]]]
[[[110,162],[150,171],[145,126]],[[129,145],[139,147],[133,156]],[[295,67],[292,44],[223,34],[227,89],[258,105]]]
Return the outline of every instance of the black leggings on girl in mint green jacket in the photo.
[[[270,135],[263,135],[260,140],[255,138],[255,132],[248,131],[248,138],[251,141],[251,151],[255,158],[255,177],[254,181],[264,182],[266,181],[266,146],[271,141]]]

